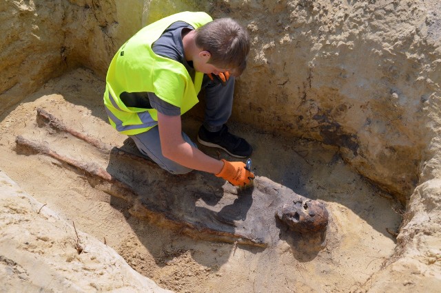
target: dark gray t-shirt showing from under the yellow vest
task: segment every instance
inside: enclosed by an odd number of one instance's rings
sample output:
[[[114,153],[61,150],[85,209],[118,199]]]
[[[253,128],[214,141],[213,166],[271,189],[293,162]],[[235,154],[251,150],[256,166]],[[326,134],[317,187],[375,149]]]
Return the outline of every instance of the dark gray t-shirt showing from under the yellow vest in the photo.
[[[189,75],[194,79],[194,68],[192,67],[192,64],[187,63],[184,56],[184,46],[182,43],[182,30],[184,28],[194,30],[192,25],[183,21],[178,21],[170,25],[159,39],[153,43],[152,50],[160,56],[182,63],[187,69]],[[147,93],[147,95],[150,100],[150,105],[159,113],[163,113],[167,116],[181,115],[181,108],[176,107],[169,102],[165,102],[161,98],[158,98],[154,93]]]

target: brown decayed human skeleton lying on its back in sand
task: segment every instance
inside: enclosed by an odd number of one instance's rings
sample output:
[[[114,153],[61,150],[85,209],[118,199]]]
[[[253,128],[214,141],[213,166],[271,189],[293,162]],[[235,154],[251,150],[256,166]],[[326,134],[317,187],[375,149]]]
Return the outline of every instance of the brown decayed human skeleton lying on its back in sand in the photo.
[[[92,186],[132,204],[132,215],[176,228],[194,238],[265,247],[280,237],[280,223],[304,235],[326,230],[325,206],[291,189],[256,176],[252,188],[240,189],[211,174],[193,171],[171,175],[152,161],[103,144],[66,127],[38,109],[37,119],[61,133],[70,133],[110,157],[107,170],[59,155],[43,144],[17,138],[17,146],[52,158],[88,174]],[[300,204],[299,204],[300,203]],[[314,206],[314,210],[309,206]]]

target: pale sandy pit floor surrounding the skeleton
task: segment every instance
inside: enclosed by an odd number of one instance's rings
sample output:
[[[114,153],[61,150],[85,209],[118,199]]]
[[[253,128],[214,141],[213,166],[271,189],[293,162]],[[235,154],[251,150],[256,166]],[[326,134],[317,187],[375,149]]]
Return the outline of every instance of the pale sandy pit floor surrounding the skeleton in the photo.
[[[57,160],[16,153],[15,138],[23,135],[79,160],[96,158],[94,163],[105,169],[108,158],[94,155],[93,148],[70,135],[50,133],[36,122],[40,107],[92,138],[123,145],[127,137],[107,123],[101,102],[103,86],[103,80],[89,70],[76,69],[50,80],[6,111],[0,118],[0,169],[39,202],[74,221],[77,229],[102,239],[132,268],[161,287],[175,292],[351,292],[393,252],[392,234],[400,225],[402,206],[351,170],[338,149],[317,142],[229,124],[254,146],[256,175],[327,205],[326,239],[309,249],[302,246],[305,239],[291,237],[265,249],[190,239],[136,219],[123,200],[96,190]],[[196,137],[199,123],[196,116],[185,117],[190,137]],[[203,151],[219,155],[210,149]]]

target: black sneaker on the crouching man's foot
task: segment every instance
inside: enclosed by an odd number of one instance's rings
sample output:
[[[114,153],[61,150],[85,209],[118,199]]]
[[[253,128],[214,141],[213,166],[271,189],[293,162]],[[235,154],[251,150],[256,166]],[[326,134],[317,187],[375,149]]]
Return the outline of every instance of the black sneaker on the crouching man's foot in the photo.
[[[236,158],[247,158],[253,152],[253,148],[243,138],[229,133],[227,125],[223,125],[220,131],[210,132],[201,126],[198,133],[198,142],[205,146],[223,149],[229,155]]]

